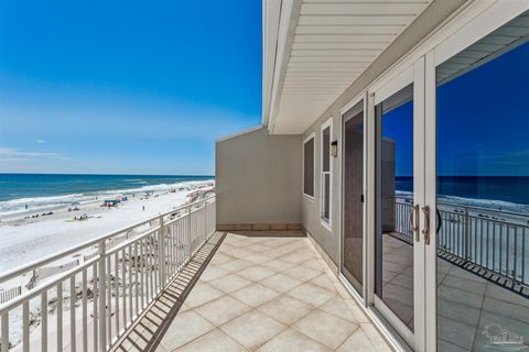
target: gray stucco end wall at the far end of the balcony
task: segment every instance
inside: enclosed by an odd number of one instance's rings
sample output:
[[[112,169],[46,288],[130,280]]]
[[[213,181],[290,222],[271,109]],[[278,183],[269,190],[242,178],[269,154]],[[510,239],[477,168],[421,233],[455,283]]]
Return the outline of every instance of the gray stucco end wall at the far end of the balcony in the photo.
[[[217,224],[301,223],[300,146],[266,128],[217,141]]]

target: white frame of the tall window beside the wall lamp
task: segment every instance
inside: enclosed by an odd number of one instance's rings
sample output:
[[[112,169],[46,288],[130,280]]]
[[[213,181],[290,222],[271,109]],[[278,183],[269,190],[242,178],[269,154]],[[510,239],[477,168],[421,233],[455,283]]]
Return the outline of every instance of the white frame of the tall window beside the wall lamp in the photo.
[[[328,172],[323,170],[323,131],[328,128]],[[333,118],[322,123],[320,131],[320,222],[332,231],[333,224],[333,157],[331,156],[331,145],[333,144]],[[325,174],[328,174],[328,219],[323,217],[325,211]]]

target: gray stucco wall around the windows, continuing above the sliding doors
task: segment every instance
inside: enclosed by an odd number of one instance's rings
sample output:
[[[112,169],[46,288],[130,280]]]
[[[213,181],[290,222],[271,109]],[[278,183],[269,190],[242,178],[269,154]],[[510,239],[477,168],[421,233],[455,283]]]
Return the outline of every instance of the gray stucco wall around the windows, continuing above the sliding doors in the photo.
[[[302,226],[311,233],[314,240],[322,246],[336,265],[339,264],[341,242],[341,184],[342,155],[333,161],[333,223],[332,232],[320,221],[320,184],[321,184],[321,127],[328,118],[333,118],[332,141],[338,141],[338,150],[342,150],[339,109],[352,99],[361,94],[373,81],[388,70],[403,55],[418,45],[424,37],[431,34],[443,21],[458,10],[466,0],[435,0],[404,32],[397,37],[391,45],[352,84],[343,95],[303,133],[303,140],[311,133],[316,133],[315,140],[315,197],[310,199],[302,197]]]

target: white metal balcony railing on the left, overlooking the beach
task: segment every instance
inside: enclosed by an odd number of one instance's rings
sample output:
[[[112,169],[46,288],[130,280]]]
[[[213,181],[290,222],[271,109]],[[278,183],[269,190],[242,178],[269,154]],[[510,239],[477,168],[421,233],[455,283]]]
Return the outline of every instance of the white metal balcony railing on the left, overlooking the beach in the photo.
[[[1,274],[1,352],[109,350],[214,232],[210,197]]]

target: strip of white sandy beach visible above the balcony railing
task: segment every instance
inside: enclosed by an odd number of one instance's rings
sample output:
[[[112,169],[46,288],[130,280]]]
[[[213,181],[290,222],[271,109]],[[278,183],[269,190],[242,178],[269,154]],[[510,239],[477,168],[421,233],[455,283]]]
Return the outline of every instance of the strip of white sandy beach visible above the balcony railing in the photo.
[[[36,261],[87,240],[101,237],[143,219],[170,211],[188,200],[188,195],[199,188],[210,187],[213,180],[190,182],[184,189],[174,193],[154,193],[128,196],[117,207],[101,207],[102,198],[82,204],[78,211],[68,207],[53,210],[53,215],[31,218],[32,212],[0,222],[0,272]],[[143,209],[144,207],[144,209]],[[73,208],[73,207],[71,207]],[[73,220],[85,215],[88,219]],[[30,217],[24,219],[25,217]]]

